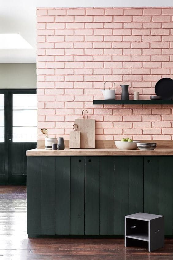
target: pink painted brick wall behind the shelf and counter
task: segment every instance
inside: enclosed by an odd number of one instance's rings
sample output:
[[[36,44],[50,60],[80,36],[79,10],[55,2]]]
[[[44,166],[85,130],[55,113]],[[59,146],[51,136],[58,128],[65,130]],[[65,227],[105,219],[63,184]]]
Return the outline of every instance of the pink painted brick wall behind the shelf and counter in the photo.
[[[129,84],[130,99],[155,94],[156,81],[173,74],[173,8],[37,10],[38,138],[64,136],[87,109],[96,139],[173,139],[168,105],[93,105],[104,81]]]

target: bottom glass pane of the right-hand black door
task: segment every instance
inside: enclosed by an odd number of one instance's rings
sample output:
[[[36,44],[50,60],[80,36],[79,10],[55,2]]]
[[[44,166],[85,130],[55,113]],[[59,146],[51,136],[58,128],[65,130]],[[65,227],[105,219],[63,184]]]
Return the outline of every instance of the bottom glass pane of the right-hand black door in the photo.
[[[13,142],[37,142],[37,126],[13,126]]]

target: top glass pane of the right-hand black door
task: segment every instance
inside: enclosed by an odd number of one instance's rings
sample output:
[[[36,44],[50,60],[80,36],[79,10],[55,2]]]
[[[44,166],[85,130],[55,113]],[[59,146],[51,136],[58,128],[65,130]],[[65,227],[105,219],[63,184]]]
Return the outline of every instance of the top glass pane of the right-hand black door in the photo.
[[[15,109],[37,109],[37,94],[13,94]]]

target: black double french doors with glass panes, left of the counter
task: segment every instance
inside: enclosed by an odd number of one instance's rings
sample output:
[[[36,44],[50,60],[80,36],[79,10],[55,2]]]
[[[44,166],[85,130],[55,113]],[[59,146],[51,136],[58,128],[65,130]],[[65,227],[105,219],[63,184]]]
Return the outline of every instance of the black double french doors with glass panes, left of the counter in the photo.
[[[0,184],[26,184],[26,150],[36,145],[36,89],[0,89]]]

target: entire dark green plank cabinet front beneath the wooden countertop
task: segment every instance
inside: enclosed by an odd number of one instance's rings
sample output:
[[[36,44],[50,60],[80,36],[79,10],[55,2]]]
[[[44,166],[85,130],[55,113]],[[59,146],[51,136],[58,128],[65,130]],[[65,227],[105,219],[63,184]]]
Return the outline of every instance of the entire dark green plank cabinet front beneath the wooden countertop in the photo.
[[[165,216],[173,234],[171,156],[27,156],[27,234],[123,235],[124,216]]]

